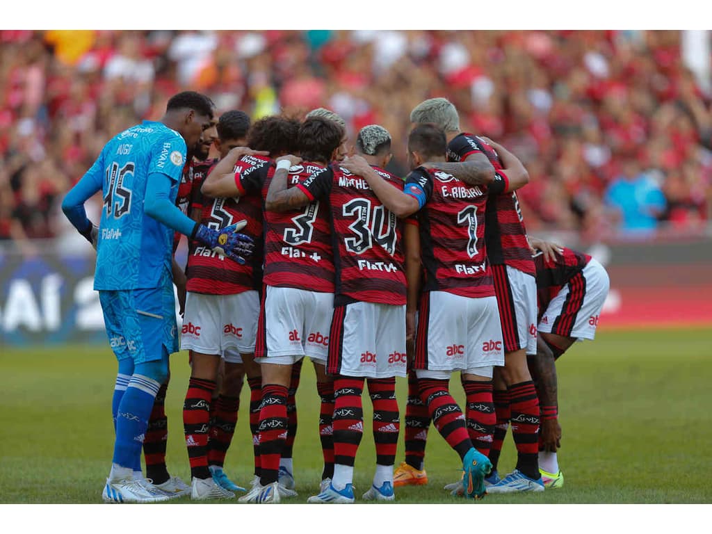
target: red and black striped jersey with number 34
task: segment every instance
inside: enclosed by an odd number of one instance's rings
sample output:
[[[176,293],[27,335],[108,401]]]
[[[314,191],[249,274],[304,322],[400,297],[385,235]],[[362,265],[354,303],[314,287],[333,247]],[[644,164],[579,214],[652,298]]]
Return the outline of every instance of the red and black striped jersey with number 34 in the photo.
[[[372,167],[386,182],[403,190],[402,179]],[[365,179],[336,164],[315,174],[303,187],[310,199],[325,199],[330,206],[334,305],[355,300],[404,305],[403,221],[381,204]]]

